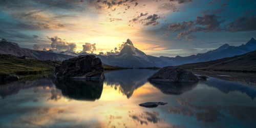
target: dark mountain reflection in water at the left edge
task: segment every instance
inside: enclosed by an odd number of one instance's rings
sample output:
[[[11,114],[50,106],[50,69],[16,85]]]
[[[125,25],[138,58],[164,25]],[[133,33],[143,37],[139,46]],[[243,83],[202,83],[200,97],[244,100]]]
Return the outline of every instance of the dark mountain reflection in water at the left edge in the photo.
[[[7,95],[17,94],[19,90],[33,87],[52,87],[53,84],[48,79],[39,79],[35,81],[17,81],[0,86],[0,96],[5,98]]]

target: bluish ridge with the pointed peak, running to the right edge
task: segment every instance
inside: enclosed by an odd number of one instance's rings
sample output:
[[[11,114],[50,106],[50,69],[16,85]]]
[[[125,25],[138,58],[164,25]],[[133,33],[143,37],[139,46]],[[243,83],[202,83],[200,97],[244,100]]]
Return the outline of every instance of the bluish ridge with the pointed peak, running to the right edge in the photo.
[[[135,48],[132,41],[127,39],[119,55],[97,55],[97,57],[99,57],[105,64],[117,65],[121,67],[164,67],[233,57],[251,52],[255,49],[256,40],[251,38],[246,44],[242,44],[241,46],[230,46],[228,44],[224,44],[219,48],[210,50],[204,54],[191,55],[188,57],[154,57],[146,55],[141,50]]]

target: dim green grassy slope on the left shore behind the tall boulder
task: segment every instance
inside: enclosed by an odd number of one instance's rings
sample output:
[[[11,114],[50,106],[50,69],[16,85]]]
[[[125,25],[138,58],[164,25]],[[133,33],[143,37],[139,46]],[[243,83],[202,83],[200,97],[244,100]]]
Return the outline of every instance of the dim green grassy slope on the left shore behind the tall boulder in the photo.
[[[60,63],[60,61],[42,61],[12,55],[0,55],[0,79],[10,73],[16,74],[20,78],[51,74],[55,66]]]

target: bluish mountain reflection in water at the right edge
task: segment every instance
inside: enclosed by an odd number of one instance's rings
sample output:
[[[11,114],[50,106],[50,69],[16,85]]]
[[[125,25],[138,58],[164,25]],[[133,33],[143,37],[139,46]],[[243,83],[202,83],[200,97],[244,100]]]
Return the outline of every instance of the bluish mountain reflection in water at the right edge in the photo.
[[[251,99],[256,97],[256,89],[253,87],[245,86],[236,82],[225,81],[216,78],[210,78],[205,82],[206,85],[210,87],[215,87],[224,93],[229,93],[231,91],[240,91],[246,93]]]

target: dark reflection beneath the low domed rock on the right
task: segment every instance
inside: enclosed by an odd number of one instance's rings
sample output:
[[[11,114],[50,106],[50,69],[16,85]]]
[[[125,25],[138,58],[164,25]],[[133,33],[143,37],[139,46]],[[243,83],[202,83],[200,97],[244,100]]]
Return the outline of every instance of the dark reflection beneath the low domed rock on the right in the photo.
[[[165,94],[180,95],[186,91],[191,91],[197,86],[196,82],[150,82]]]

